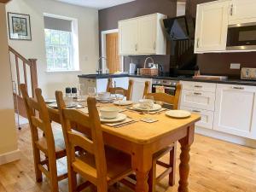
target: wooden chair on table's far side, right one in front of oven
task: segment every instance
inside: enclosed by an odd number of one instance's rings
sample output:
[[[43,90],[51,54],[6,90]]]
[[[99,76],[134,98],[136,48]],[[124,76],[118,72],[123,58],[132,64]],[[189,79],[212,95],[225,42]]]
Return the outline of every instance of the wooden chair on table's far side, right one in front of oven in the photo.
[[[145,88],[143,95],[154,96],[154,100],[158,102],[166,102],[168,104],[172,104],[172,109],[178,108],[179,97],[181,93],[181,84],[177,84],[175,96],[170,96],[166,93],[148,93],[150,82],[145,82]],[[159,159],[165,154],[170,153],[169,163],[166,164],[161,162]],[[156,166],[162,166],[166,168],[166,171],[161,173],[158,177],[156,177]],[[155,184],[159,183],[160,180],[167,175],[169,175],[169,185],[173,186],[175,184],[175,166],[176,166],[176,143],[173,143],[168,148],[164,148],[160,152],[154,154],[152,170],[149,172],[148,183],[149,183],[149,191],[155,191]]]

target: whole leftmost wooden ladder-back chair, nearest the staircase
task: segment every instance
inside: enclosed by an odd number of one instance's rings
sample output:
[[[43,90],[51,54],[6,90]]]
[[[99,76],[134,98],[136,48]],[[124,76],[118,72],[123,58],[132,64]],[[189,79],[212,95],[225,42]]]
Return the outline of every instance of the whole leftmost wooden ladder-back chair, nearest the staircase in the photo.
[[[58,181],[67,178],[67,173],[61,176],[57,175],[56,166],[56,160],[66,156],[63,134],[60,131],[60,134],[54,135],[52,131],[48,108],[44,102],[42,91],[40,89],[35,90],[37,99],[35,100],[28,96],[25,84],[20,84],[20,90],[25,102],[27,118],[31,129],[37,182],[42,182],[43,172],[49,178],[51,191],[59,191]],[[44,136],[39,137],[38,129],[44,131]],[[45,160],[41,160],[40,152],[43,152],[45,155]],[[47,167],[45,168],[45,166]]]

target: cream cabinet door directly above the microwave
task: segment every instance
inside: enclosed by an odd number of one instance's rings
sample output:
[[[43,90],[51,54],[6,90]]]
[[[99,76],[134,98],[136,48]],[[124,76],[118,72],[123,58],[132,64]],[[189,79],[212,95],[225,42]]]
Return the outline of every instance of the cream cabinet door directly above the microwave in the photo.
[[[255,0],[233,0],[230,4],[229,24],[256,22]]]

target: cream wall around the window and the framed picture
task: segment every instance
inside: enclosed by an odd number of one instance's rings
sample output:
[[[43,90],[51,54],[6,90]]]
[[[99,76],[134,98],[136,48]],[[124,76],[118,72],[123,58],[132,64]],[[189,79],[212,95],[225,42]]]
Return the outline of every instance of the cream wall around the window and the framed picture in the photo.
[[[8,12],[28,14],[31,19],[32,41],[9,40],[9,45],[26,58],[38,59],[38,86],[46,97],[55,90],[79,84],[78,74],[96,73],[99,57],[98,11],[50,0],[12,0]],[[47,73],[44,47],[44,13],[62,15],[78,20],[80,72]]]

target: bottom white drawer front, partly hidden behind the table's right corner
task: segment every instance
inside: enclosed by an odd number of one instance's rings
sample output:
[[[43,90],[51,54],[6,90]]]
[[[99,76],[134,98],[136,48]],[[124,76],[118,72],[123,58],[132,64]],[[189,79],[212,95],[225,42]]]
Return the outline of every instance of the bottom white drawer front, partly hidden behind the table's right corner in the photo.
[[[191,113],[198,113],[201,115],[201,120],[195,123],[196,127],[202,127],[211,129],[213,128],[213,116],[214,113],[212,111],[202,110],[198,108],[188,108],[188,107],[181,107],[182,110],[187,110]]]

